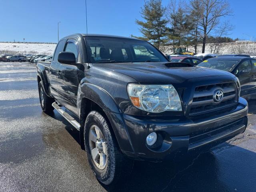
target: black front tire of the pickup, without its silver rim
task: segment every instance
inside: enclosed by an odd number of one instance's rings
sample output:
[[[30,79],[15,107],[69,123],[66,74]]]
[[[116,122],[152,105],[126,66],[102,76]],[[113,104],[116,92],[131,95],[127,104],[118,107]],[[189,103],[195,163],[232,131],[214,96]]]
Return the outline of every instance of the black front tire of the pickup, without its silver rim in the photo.
[[[98,126],[106,142],[107,160],[104,169],[98,168],[90,150],[89,133],[92,126]],[[128,159],[119,149],[112,128],[106,119],[97,111],[91,111],[84,126],[84,146],[90,167],[96,178],[105,185],[115,184],[128,176],[132,170],[133,161]]]

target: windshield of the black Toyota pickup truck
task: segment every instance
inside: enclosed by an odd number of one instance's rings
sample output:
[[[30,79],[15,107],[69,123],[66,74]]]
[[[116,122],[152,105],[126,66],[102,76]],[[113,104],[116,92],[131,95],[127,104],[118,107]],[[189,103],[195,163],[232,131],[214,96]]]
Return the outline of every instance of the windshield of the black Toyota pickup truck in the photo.
[[[150,43],[113,37],[85,37],[90,63],[168,62]]]

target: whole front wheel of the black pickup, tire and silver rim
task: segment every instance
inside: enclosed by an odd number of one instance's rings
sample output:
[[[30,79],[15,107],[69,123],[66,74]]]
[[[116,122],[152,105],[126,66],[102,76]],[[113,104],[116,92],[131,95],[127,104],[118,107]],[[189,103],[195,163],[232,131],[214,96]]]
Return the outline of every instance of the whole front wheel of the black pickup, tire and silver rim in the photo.
[[[86,118],[84,145],[90,167],[103,184],[116,183],[131,172],[132,160],[120,152],[110,125],[97,111],[90,112]]]

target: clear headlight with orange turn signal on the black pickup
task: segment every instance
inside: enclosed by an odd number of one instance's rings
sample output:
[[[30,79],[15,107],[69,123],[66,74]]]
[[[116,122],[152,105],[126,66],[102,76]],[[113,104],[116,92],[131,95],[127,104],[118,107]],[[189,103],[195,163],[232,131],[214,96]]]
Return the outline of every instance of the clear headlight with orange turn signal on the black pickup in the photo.
[[[147,112],[182,111],[180,97],[172,85],[128,84],[132,104]]]

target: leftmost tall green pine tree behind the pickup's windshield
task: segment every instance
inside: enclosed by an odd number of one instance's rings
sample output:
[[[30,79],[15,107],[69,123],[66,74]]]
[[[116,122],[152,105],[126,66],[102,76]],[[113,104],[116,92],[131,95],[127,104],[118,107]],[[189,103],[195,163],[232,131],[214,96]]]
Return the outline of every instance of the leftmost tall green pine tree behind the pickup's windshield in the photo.
[[[136,24],[141,26],[140,32],[143,34],[141,39],[152,42],[157,48],[166,40],[168,21],[164,18],[165,10],[162,0],[145,1],[140,12],[145,22],[136,20]]]

